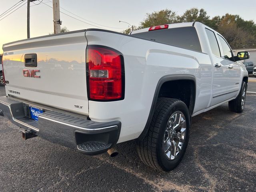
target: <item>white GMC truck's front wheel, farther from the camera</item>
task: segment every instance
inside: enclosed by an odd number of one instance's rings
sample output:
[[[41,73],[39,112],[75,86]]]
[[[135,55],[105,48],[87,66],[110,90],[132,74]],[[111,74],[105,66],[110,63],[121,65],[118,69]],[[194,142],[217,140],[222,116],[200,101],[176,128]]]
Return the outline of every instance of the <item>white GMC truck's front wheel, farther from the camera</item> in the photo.
[[[238,96],[228,102],[228,108],[232,112],[241,113],[244,110],[246,100],[246,83],[243,81]]]

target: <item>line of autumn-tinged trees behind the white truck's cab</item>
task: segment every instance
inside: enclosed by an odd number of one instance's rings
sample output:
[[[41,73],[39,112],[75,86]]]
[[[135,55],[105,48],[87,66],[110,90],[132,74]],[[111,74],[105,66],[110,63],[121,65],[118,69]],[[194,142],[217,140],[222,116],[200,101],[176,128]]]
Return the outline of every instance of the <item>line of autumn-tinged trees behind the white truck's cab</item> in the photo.
[[[244,20],[239,15],[228,13],[224,16],[210,18],[204,9],[199,10],[198,8],[186,10],[182,15],[178,15],[170,9],[148,13],[139,26],[134,26],[134,30],[163,24],[196,21],[222,34],[233,49],[256,47],[256,24],[253,20]],[[128,34],[131,30],[128,28],[123,33]]]

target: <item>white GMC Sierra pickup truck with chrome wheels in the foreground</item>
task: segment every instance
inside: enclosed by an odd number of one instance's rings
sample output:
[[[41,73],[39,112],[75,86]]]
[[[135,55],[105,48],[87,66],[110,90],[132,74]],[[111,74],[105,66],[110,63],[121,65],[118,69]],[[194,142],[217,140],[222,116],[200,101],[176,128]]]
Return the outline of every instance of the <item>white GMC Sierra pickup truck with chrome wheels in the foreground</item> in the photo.
[[[192,116],[228,102],[242,112],[248,72],[221,34],[199,22],[100,29],[3,45],[1,114],[39,136],[88,155],[137,140],[141,160],[174,169]],[[203,129],[203,128],[202,128]]]

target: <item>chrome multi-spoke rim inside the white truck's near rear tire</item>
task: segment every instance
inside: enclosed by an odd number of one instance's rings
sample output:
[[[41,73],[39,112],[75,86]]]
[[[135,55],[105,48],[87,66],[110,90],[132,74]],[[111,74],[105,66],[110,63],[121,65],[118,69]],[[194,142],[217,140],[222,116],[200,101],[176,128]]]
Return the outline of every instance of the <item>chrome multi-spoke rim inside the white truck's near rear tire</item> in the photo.
[[[176,111],[169,118],[164,133],[164,153],[169,160],[180,154],[185,136],[186,118],[181,111]]]

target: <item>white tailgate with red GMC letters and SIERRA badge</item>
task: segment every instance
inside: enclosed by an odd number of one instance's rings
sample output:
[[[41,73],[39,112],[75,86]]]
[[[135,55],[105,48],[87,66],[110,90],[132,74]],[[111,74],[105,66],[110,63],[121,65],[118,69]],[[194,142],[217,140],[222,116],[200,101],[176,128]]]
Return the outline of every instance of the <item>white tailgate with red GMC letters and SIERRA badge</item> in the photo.
[[[88,115],[86,45],[85,30],[5,44],[8,94]],[[37,66],[29,66],[33,58]]]

